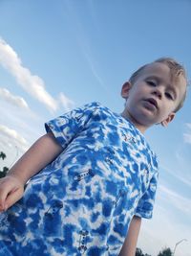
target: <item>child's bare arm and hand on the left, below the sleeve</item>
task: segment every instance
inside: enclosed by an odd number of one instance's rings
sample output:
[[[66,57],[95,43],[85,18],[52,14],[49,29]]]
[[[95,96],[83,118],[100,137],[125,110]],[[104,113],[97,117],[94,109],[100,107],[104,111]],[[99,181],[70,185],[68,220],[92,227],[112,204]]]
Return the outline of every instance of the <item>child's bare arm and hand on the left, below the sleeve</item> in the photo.
[[[0,179],[0,211],[7,210],[22,198],[25,183],[42,168],[51,163],[63,148],[56,142],[52,132],[40,137]]]

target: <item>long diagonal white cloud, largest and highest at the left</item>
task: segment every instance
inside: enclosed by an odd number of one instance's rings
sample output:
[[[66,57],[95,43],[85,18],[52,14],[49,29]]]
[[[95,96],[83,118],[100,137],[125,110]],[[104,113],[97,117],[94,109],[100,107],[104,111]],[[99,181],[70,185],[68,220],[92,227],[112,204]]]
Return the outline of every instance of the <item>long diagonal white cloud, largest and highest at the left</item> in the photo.
[[[40,103],[46,105],[51,111],[58,108],[56,99],[46,91],[44,81],[36,75],[32,75],[31,71],[22,65],[21,59],[11,46],[2,38],[0,38],[0,64],[6,68],[11,75],[16,79],[18,84],[27,91],[33,98]],[[62,97],[62,96],[61,96]],[[70,103],[65,96],[65,106]]]

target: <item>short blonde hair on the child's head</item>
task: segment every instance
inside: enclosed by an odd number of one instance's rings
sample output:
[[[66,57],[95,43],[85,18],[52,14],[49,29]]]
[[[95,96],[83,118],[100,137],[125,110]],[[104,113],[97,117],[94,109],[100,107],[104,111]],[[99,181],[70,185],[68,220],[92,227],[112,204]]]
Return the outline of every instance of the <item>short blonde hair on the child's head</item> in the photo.
[[[132,74],[129,81],[132,84],[134,84],[135,81],[137,81],[138,76],[144,70],[144,68],[147,67],[148,65],[152,64],[152,63],[163,63],[163,64],[167,65],[170,69],[171,76],[173,78],[178,78],[178,77],[182,76],[185,79],[185,81],[187,82],[186,72],[185,72],[184,67],[177,60],[175,60],[174,58],[158,58],[158,59],[156,59],[155,61],[153,61],[151,63],[147,63],[147,64],[141,66],[140,68],[138,68],[138,70],[136,72],[134,72]],[[185,93],[182,96],[180,104],[176,107],[175,112],[180,110],[181,106],[184,103],[185,97],[186,97],[186,90],[185,90]]]

